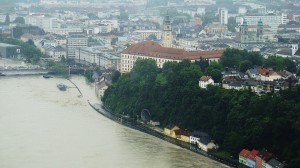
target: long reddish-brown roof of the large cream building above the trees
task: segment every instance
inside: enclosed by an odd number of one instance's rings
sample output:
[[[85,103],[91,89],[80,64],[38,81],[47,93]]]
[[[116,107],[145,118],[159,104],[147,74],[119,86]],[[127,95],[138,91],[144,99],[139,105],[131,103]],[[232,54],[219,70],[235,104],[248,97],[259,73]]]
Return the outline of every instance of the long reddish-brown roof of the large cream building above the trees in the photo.
[[[223,52],[224,50],[188,52],[183,49],[162,47],[158,43],[152,41],[145,41],[130,45],[122,52],[122,54],[145,55],[174,60],[195,60],[199,58],[220,58]]]

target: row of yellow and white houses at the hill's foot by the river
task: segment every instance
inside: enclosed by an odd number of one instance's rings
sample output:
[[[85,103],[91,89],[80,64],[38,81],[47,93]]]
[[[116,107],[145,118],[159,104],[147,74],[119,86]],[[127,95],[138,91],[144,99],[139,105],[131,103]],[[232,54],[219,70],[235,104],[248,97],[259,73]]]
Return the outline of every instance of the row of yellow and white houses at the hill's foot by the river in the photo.
[[[164,128],[164,134],[183,142],[195,144],[198,146],[198,148],[205,152],[218,148],[218,145],[216,145],[214,141],[211,140],[211,137],[204,132],[189,132],[179,128],[176,125],[170,124]]]

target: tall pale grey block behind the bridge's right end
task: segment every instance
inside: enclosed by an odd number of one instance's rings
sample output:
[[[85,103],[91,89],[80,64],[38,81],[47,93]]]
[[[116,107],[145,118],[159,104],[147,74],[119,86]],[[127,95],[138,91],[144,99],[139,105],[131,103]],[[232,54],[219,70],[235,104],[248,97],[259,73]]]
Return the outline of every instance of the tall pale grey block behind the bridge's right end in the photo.
[[[67,57],[75,58],[75,51],[81,47],[87,47],[88,38],[83,34],[70,34],[67,37]]]

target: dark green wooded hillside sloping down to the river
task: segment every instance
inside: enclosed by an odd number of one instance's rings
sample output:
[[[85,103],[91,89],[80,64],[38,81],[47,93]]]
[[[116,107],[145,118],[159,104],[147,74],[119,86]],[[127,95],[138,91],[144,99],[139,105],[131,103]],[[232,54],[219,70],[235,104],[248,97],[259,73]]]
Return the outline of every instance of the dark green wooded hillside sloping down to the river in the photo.
[[[291,167],[300,165],[300,87],[261,97],[215,86],[200,89],[203,64],[168,62],[160,70],[153,60],[138,60],[102,101],[115,113],[136,117],[149,109],[163,126],[208,132],[233,156],[243,148],[267,148]]]

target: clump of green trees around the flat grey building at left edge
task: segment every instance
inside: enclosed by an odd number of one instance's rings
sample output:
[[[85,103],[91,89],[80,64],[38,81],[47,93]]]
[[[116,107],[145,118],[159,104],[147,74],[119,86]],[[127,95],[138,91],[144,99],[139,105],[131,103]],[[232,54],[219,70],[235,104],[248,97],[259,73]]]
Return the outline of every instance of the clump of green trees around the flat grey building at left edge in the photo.
[[[21,40],[17,40],[13,38],[7,38],[1,35],[0,35],[0,42],[21,46],[22,47],[21,53],[22,56],[26,59],[26,62],[36,64],[37,62],[39,62],[42,56],[41,51],[30,43],[23,42]]]

